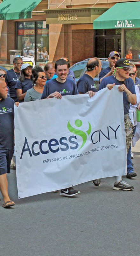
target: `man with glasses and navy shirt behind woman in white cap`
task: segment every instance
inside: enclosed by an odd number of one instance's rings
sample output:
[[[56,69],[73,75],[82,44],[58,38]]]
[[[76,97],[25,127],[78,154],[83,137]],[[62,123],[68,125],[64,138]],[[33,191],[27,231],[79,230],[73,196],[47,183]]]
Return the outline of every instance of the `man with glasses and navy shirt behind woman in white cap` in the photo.
[[[20,57],[17,57],[13,60],[13,69],[10,69],[6,73],[5,82],[10,89],[10,98],[12,98],[15,102],[18,101],[17,92],[15,89],[16,83],[20,76],[20,69],[23,64],[23,60]]]

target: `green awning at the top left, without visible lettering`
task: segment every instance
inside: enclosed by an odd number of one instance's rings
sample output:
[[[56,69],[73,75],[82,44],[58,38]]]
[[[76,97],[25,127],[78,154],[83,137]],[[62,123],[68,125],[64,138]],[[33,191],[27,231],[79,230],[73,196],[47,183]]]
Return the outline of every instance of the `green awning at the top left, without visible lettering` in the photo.
[[[0,4],[0,20],[32,18],[32,10],[41,0],[6,0]]]

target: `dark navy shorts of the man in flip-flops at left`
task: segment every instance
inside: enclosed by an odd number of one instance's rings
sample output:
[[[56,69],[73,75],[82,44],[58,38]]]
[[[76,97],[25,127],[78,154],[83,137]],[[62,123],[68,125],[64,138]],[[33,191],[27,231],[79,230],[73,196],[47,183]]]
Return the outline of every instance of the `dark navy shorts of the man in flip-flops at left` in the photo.
[[[10,173],[10,164],[14,149],[0,149],[0,175]]]

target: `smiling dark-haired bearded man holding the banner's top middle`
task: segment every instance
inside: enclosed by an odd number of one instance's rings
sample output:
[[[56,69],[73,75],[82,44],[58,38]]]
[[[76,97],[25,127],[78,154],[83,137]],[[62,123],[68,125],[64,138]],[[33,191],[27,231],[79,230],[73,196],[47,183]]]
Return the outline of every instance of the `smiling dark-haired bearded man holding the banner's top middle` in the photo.
[[[64,95],[75,95],[79,94],[75,82],[71,79],[67,79],[68,73],[68,63],[66,60],[60,59],[55,62],[55,72],[58,77],[48,81],[44,87],[42,93],[42,99],[58,98],[61,99]],[[95,94],[95,92],[89,91],[90,98]],[[79,194],[80,191],[70,187],[62,189],[60,191],[60,196],[75,196]]]

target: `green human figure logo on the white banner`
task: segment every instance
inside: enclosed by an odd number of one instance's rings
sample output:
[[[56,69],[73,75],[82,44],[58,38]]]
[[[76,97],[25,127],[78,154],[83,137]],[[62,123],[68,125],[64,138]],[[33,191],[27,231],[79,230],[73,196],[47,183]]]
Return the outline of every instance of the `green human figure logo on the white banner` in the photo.
[[[89,129],[88,129],[88,131],[86,131],[86,132],[87,132],[87,134],[89,135],[90,132],[91,132],[91,124],[90,124],[89,122],[88,122],[88,124],[89,124]],[[77,120],[75,121],[75,125],[76,125],[77,127],[81,127],[82,121],[81,121],[80,119],[77,119]],[[87,141],[87,134],[86,134],[86,132],[83,132],[83,131],[81,131],[81,130],[75,129],[74,127],[71,126],[71,124],[70,124],[69,121],[68,121],[68,123],[67,123],[67,128],[68,128],[68,130],[69,130],[70,132],[81,136],[83,142],[82,142],[81,147],[78,149],[78,151],[79,151],[79,150],[85,145],[85,143],[86,143],[86,141]]]

